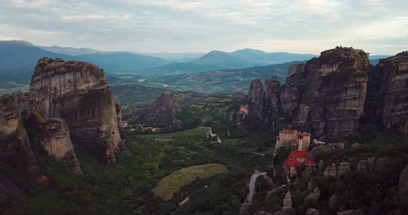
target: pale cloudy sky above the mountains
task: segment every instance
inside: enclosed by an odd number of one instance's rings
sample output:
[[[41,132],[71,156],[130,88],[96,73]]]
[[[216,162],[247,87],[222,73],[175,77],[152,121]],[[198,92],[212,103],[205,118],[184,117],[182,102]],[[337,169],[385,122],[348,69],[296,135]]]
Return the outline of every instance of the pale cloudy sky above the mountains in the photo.
[[[0,40],[133,52],[408,50],[407,0],[0,0]]]

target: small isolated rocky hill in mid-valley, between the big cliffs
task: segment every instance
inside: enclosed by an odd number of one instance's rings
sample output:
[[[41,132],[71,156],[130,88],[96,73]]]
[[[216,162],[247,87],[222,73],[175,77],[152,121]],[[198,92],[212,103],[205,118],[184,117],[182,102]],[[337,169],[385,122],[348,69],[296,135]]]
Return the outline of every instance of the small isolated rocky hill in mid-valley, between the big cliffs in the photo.
[[[140,122],[156,123],[158,125],[167,125],[176,123],[176,113],[181,110],[174,94],[163,92],[154,106],[137,110],[134,112],[133,120]]]

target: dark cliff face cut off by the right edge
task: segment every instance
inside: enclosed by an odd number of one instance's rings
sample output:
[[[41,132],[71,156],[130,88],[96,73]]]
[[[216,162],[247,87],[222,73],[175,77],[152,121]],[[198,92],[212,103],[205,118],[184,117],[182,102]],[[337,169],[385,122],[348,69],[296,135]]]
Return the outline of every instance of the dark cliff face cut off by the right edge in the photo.
[[[382,77],[379,112],[384,127],[408,132],[408,52],[381,59],[375,68]]]

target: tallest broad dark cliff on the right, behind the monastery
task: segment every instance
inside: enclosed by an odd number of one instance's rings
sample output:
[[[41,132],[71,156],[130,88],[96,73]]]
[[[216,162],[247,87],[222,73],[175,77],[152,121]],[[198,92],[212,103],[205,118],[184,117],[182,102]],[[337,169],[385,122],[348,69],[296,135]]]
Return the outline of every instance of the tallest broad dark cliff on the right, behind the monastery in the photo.
[[[352,48],[327,50],[299,65],[295,80],[288,77],[288,84],[296,85],[302,98],[293,123],[330,139],[356,132],[364,114],[368,73],[368,54]]]

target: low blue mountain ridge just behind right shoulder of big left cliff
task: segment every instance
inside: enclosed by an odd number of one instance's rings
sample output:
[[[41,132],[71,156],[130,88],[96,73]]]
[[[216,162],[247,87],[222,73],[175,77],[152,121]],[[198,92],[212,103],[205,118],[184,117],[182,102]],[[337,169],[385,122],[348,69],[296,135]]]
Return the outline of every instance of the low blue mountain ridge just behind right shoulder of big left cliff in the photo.
[[[98,52],[78,55],[75,59],[93,63],[105,70],[143,70],[169,63],[169,61],[160,57],[130,52]]]

